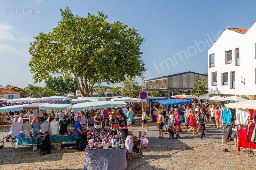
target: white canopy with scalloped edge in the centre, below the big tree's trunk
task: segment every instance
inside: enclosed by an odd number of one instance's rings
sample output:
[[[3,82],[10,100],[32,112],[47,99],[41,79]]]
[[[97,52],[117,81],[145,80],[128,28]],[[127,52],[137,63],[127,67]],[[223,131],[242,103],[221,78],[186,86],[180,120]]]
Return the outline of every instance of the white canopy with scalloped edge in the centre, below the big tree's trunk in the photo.
[[[101,108],[117,108],[124,107],[126,103],[124,101],[92,101],[86,103],[77,103],[72,107],[72,111],[84,111],[84,110],[96,110]]]

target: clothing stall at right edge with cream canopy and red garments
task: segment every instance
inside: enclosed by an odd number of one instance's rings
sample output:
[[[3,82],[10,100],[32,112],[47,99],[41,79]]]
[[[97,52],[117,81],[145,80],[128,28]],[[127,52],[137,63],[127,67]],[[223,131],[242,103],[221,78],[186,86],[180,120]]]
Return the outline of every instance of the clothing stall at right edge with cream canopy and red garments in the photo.
[[[236,103],[225,104],[227,108],[236,109],[236,124],[246,125],[244,129],[238,129],[238,151],[241,147],[247,148],[247,157],[251,153],[252,149],[256,151],[256,137],[252,136],[255,130],[256,120],[256,100],[239,101]],[[249,150],[249,151],[248,151]],[[253,153],[254,153],[253,152]]]

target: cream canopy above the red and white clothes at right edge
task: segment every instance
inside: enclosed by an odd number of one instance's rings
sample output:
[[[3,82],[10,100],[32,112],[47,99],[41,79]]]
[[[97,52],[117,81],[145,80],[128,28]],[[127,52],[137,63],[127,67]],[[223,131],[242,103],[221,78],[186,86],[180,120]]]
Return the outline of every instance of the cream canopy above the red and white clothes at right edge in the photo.
[[[224,104],[227,108],[254,109],[256,110],[256,100],[238,101],[236,103]]]

